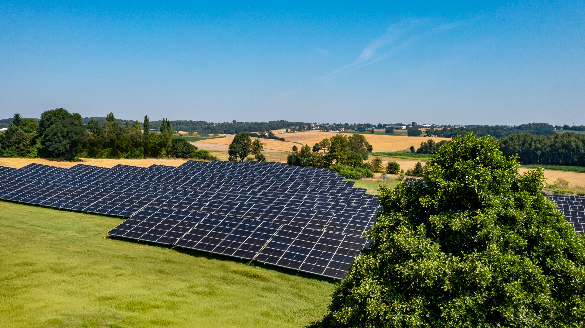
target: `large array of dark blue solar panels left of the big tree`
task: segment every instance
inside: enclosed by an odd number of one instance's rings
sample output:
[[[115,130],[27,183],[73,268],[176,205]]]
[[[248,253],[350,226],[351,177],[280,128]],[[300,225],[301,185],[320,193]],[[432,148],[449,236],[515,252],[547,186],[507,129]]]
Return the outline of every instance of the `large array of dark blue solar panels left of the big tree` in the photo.
[[[274,162],[0,167],[0,198],[128,218],[108,233],[345,278],[378,198]]]

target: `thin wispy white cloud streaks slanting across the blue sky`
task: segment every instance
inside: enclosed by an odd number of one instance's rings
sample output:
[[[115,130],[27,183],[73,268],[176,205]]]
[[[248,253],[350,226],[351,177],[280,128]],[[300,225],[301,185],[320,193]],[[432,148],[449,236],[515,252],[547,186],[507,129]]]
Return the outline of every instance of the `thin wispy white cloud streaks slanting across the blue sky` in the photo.
[[[409,19],[407,21],[403,21],[401,23],[388,27],[386,33],[384,33],[383,36],[377,37],[376,39],[370,41],[370,43],[362,50],[362,53],[360,53],[360,55],[352,63],[334,69],[331,73],[322,76],[319,80],[329,81],[331,79],[338,78],[339,76],[355,71],[356,69],[366,67],[367,65],[371,65],[374,64],[375,62],[384,60],[390,57],[391,55],[394,55],[395,53],[398,53],[399,51],[412,46],[412,44],[417,43],[419,40],[423,39],[424,37],[428,37],[431,34],[441,33],[446,30],[454,29],[458,26],[467,23],[467,21],[465,20],[452,22],[438,27],[433,27],[432,29],[426,30],[425,32],[422,33],[407,36],[408,33],[411,32],[412,29],[414,29],[414,27],[421,22],[422,22],[421,19]],[[400,37],[406,37],[406,39],[402,41],[400,44],[398,44],[398,46],[391,48],[386,53],[374,57],[378,50],[381,50],[381,48],[384,48],[386,46],[390,46],[391,44],[397,43]]]

